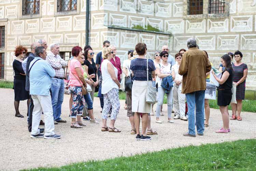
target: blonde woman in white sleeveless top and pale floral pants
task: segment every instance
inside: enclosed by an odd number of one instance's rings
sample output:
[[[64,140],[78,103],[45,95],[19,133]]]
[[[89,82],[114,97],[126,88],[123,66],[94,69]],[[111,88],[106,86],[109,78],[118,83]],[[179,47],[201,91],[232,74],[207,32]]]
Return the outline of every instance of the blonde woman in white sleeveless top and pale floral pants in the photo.
[[[114,127],[116,116],[120,109],[119,92],[120,83],[117,79],[117,69],[110,60],[113,58],[113,47],[104,47],[102,50],[103,61],[101,63],[102,87],[101,94],[104,95],[104,107],[102,110],[102,128],[101,131],[121,132]],[[112,106],[111,122],[107,127],[106,120],[110,107]]]

